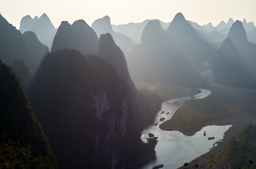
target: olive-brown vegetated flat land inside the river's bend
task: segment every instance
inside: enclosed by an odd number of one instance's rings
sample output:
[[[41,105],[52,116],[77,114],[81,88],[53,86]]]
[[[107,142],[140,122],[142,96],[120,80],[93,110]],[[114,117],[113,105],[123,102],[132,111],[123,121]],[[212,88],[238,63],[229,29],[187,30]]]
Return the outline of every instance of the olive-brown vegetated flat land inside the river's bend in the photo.
[[[210,90],[211,95],[205,99],[187,101],[176,111],[175,115],[183,129],[191,130],[208,120],[218,120],[241,112],[253,112],[251,107],[255,107],[256,101],[253,94],[228,89]]]

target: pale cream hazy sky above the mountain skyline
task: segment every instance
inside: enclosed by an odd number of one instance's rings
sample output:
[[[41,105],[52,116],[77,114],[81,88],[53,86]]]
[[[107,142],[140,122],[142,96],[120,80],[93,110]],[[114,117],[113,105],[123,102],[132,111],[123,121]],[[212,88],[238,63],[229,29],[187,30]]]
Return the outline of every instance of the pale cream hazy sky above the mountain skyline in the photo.
[[[0,13],[19,29],[21,18],[46,13],[57,28],[61,21],[84,19],[89,25],[110,16],[112,24],[142,22],[145,19],[173,20],[181,12],[187,20],[213,25],[229,18],[256,25],[256,0],[0,0]]]

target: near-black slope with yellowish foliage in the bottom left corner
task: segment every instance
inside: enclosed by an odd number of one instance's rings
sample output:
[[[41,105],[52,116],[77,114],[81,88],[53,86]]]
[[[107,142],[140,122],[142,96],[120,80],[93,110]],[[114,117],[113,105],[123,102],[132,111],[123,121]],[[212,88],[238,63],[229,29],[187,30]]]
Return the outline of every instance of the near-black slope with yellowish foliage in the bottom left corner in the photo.
[[[0,62],[0,76],[1,167],[55,168],[47,136],[16,75]]]

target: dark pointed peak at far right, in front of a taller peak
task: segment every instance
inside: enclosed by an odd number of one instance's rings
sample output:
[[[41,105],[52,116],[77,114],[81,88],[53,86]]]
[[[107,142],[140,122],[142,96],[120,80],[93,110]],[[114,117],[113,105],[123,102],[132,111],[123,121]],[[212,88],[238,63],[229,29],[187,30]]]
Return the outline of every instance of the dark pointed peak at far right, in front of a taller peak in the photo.
[[[255,81],[229,38],[224,40],[215,57],[211,58],[210,65],[214,74],[214,83],[239,88],[255,88]]]

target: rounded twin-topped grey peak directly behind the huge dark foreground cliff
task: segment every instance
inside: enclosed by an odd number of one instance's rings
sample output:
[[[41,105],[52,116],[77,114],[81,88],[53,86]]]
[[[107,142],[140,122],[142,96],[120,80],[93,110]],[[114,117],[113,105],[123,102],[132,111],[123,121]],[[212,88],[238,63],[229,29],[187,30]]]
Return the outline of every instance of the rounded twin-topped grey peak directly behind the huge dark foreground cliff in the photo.
[[[99,39],[94,30],[83,20],[70,25],[62,21],[53,40],[51,52],[60,49],[77,49],[81,53],[96,53]]]

